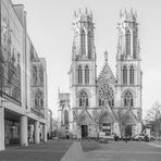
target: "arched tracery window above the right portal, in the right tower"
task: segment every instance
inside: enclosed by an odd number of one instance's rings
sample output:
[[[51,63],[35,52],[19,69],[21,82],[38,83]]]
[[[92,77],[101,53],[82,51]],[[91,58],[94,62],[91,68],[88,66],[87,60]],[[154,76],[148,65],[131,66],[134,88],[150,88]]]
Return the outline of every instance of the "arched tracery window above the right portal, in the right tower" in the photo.
[[[129,90],[127,90],[124,95],[124,107],[134,107],[134,97]]]

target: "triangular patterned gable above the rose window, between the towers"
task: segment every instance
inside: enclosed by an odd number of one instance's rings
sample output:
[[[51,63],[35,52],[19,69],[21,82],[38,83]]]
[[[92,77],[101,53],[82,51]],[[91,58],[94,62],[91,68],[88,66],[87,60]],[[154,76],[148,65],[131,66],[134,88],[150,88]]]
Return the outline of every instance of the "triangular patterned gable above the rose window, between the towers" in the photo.
[[[110,69],[110,66],[108,64],[108,60],[106,60],[102,71],[100,72],[100,74],[98,76],[98,84],[100,84],[102,82],[107,82],[107,81],[111,84],[116,83],[114,75],[112,73],[112,70]]]

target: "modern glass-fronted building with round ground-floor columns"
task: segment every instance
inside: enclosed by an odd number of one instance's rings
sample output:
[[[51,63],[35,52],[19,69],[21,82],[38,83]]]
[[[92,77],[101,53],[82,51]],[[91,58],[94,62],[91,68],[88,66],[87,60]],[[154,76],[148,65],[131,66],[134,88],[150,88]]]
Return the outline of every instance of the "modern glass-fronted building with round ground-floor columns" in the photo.
[[[47,140],[47,64],[26,30],[22,4],[0,0],[0,150]],[[41,133],[40,133],[41,132]]]

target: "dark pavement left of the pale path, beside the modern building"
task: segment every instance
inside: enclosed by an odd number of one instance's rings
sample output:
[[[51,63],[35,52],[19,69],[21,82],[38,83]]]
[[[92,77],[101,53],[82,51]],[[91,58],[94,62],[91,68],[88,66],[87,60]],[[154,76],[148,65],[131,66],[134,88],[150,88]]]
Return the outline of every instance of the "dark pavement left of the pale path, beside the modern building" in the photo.
[[[0,152],[0,161],[60,161],[71,140],[53,140],[28,147],[12,147]]]

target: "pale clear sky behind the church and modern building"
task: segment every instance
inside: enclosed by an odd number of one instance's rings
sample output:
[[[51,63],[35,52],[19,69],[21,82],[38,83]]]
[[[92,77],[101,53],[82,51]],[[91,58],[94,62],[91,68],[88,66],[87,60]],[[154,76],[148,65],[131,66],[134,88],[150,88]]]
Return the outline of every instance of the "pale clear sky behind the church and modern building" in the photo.
[[[115,75],[117,23],[120,10],[137,11],[140,59],[143,70],[143,112],[156,101],[161,103],[161,1],[160,0],[12,0],[24,4],[27,12],[27,33],[39,57],[47,60],[48,108],[57,116],[58,88],[70,91],[69,70],[74,11],[92,12],[97,74],[104,63],[104,51]]]

